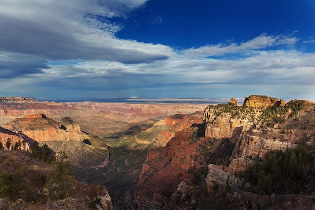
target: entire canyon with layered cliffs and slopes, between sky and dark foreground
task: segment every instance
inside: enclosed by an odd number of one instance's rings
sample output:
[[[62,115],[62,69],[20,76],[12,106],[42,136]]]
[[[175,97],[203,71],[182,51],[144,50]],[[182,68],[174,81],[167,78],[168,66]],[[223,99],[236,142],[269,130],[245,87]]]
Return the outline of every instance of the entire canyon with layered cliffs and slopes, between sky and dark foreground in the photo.
[[[37,141],[54,152],[66,151],[77,180],[105,185],[115,200],[152,201],[149,195],[158,193],[164,201],[182,197],[173,204],[206,209],[211,205],[206,194],[217,186],[224,191],[226,184],[243,202],[246,183],[239,175],[268,151],[312,144],[315,103],[303,101],[298,109],[300,103],[258,95],[241,106],[233,98],[208,105],[2,97],[0,141],[5,146],[8,138],[12,145],[25,139],[25,150]]]

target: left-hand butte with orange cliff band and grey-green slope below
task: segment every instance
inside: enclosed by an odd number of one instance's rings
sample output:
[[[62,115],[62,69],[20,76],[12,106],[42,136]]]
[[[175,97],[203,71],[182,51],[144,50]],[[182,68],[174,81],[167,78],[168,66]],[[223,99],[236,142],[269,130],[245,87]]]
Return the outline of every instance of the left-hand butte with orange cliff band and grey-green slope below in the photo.
[[[39,146],[46,144],[55,153],[65,151],[74,166],[105,167],[108,163],[107,145],[97,137],[82,132],[80,126],[69,117],[57,122],[46,117],[45,114],[32,114],[12,120],[4,124],[3,128],[18,136],[30,137],[39,142]],[[25,147],[29,147],[29,144]]]

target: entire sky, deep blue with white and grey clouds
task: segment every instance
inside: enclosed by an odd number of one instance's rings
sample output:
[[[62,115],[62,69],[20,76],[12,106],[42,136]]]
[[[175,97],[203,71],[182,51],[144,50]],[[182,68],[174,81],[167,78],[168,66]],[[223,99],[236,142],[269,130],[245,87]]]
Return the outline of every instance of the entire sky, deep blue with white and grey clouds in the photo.
[[[313,0],[0,0],[0,96],[315,101]]]

